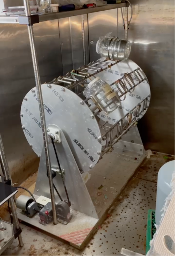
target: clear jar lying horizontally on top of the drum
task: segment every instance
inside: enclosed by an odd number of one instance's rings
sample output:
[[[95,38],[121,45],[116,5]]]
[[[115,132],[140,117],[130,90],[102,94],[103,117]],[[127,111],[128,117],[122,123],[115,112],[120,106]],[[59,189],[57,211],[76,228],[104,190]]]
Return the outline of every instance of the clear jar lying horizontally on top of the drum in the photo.
[[[96,44],[96,52],[110,60],[125,61],[131,53],[131,43],[118,37],[102,37]]]

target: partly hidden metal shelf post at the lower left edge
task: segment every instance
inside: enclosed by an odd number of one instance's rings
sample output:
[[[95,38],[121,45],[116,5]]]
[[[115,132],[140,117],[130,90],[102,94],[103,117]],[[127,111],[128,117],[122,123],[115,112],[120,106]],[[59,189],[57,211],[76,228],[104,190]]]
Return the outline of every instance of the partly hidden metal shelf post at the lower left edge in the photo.
[[[2,138],[1,138],[1,134],[0,134],[0,165],[1,165],[1,168],[2,168],[2,171],[3,171],[5,181],[11,180],[11,175],[10,175],[9,166],[8,166],[8,163],[7,163],[7,160],[6,160],[6,157],[5,157],[4,146],[3,146],[3,141],[2,141]],[[19,221],[18,221],[18,218],[17,218],[15,202],[14,202],[13,197],[11,197],[9,199],[9,203],[10,203],[11,210],[12,210],[14,226],[15,226],[16,230],[18,230],[18,229],[20,229],[20,225],[19,225]],[[23,240],[22,240],[21,234],[18,236],[18,240],[19,240],[20,246],[23,246]]]

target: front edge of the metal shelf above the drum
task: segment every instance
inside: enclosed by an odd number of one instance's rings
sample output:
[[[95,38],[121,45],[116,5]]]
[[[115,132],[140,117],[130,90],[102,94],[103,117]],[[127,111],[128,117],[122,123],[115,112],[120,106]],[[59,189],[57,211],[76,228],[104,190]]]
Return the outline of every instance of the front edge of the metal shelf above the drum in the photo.
[[[90,13],[94,13],[94,12],[113,10],[113,9],[118,9],[118,8],[123,8],[123,7],[126,7],[126,3],[107,4],[104,6],[68,11],[68,12],[56,12],[56,13],[52,13],[52,14],[42,14],[42,15],[39,15],[39,21],[43,22],[43,21],[47,21],[47,20],[62,19],[62,18],[77,16],[77,15],[82,15],[82,14],[90,14]],[[0,16],[0,23],[20,24],[19,16]]]

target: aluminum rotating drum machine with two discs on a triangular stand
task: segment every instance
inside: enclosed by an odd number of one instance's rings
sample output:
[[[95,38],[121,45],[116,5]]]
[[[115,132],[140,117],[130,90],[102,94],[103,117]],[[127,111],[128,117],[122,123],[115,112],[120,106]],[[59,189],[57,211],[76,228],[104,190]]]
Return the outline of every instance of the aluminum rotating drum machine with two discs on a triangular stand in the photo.
[[[88,96],[87,91],[90,87],[95,88],[94,85],[99,87]],[[93,169],[104,154],[116,151],[117,142],[135,129],[133,127],[148,109],[150,86],[142,69],[133,61],[101,58],[41,87],[56,209],[61,209],[57,219],[61,224],[55,228],[52,223],[45,222],[47,213],[49,216],[52,209],[47,208],[51,196],[35,87],[24,97],[20,116],[29,145],[41,157],[34,196],[36,202],[46,208],[41,210],[44,221],[39,217],[41,214],[32,219],[22,212],[18,216],[33,226],[80,246],[83,240],[75,242],[65,234],[73,234],[75,229],[79,231],[76,225],[82,221],[80,226],[84,230],[91,227],[88,235],[99,219],[82,174]],[[63,224],[68,224],[66,231]]]

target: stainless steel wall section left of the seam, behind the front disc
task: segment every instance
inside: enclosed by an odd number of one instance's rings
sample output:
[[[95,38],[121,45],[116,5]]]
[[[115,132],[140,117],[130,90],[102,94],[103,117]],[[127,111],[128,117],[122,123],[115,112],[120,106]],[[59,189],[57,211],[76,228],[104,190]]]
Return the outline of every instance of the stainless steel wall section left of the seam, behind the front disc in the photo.
[[[58,21],[34,26],[41,83],[62,74]],[[13,182],[22,182],[38,167],[21,129],[20,108],[35,86],[27,26],[0,25],[0,131]]]

